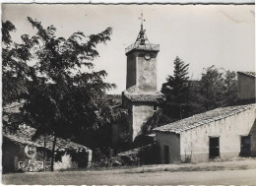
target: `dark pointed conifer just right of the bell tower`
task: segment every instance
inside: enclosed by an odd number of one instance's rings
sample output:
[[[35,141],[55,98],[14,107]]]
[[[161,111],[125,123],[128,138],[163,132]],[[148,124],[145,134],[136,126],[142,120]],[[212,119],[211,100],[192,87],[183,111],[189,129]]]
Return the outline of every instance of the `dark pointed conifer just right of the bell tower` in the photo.
[[[165,105],[171,107],[167,110],[174,110],[178,107],[179,113],[172,115],[175,118],[182,118],[182,105],[188,102],[188,66],[189,64],[185,64],[179,57],[176,57],[174,60],[173,76],[168,76],[166,79],[167,82],[161,88],[161,93],[166,97]]]

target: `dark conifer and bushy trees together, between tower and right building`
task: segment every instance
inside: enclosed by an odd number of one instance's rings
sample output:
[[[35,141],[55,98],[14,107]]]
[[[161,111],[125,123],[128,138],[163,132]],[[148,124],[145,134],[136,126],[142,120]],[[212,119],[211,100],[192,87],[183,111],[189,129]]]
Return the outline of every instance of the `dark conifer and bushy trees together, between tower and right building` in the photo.
[[[236,104],[235,72],[212,66],[204,69],[199,81],[189,80],[188,64],[176,57],[173,76],[168,76],[166,80],[161,89],[166,97],[161,114],[168,115],[173,120]]]

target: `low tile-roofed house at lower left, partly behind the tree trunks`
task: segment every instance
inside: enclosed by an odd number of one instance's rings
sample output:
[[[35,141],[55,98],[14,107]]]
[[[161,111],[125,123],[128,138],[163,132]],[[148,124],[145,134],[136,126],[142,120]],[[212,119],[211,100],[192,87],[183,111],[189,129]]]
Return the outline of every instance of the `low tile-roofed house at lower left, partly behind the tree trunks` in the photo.
[[[12,116],[20,112],[23,102],[14,102],[3,109],[3,121],[8,125]],[[3,127],[2,168],[3,172],[44,171],[50,169],[53,136],[40,136],[32,140],[35,129],[20,123],[18,130]],[[80,144],[57,138],[54,152],[54,169],[87,167],[92,160],[92,150]],[[65,162],[63,162],[65,161]]]

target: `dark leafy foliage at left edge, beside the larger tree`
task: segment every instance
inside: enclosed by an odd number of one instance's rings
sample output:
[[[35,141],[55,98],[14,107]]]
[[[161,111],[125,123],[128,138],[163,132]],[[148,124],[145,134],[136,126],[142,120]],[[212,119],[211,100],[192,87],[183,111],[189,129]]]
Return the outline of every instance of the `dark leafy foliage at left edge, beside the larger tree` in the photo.
[[[26,84],[30,76],[27,62],[31,59],[31,43],[27,35],[22,36],[21,44],[15,43],[11,31],[16,31],[10,22],[2,23],[2,91],[3,106],[21,99],[27,93]]]

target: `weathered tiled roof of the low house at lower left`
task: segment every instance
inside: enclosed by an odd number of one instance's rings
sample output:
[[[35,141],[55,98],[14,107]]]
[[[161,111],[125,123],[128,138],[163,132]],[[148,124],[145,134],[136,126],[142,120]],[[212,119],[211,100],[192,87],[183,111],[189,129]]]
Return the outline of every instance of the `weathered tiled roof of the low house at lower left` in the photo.
[[[24,145],[33,145],[37,148],[43,148],[44,147],[44,139],[43,137],[39,137],[37,140],[32,141],[32,135],[34,134],[35,129],[29,126],[21,126],[20,129],[17,131],[17,133],[12,134],[8,132],[3,132],[3,137],[9,139],[10,141],[16,143],[16,144],[24,144]],[[52,149],[52,141],[53,137],[48,136],[46,139],[46,148],[48,150]],[[90,149],[76,144],[74,142],[70,142],[68,140],[64,140],[61,138],[57,138],[56,141],[56,151],[64,152],[64,151],[89,151]]]

